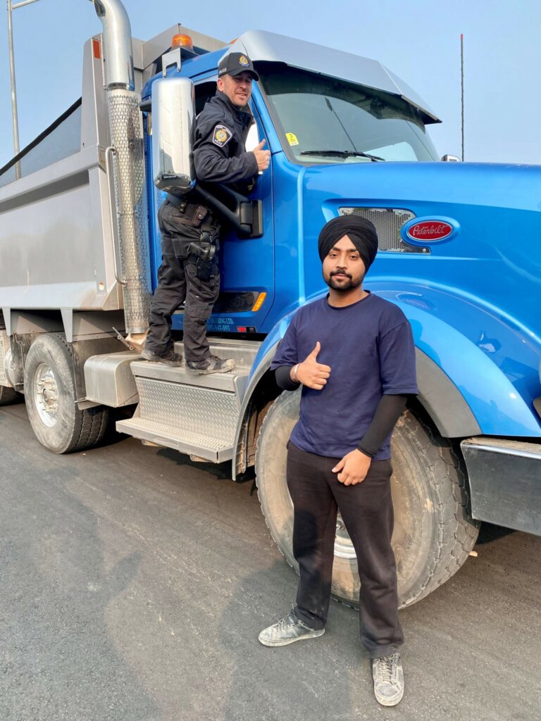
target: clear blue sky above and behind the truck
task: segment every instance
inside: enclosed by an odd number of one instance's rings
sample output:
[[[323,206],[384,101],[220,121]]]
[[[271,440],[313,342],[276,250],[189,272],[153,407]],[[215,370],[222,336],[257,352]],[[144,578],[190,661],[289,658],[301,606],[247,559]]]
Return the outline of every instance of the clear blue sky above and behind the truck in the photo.
[[[541,164],[539,0],[124,0],[132,35],[180,22],[232,40],[271,30],[374,58],[444,121],[440,154],[460,155],[459,37],[465,35],[466,159]],[[82,45],[101,30],[88,0],[39,0],[13,13],[24,147],[81,94]],[[6,6],[0,9],[0,166],[12,157]]]

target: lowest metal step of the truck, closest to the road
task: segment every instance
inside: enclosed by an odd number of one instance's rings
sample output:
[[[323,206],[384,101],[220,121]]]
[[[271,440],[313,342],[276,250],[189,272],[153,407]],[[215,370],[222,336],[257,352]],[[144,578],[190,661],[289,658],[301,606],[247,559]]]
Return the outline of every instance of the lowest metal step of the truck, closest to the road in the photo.
[[[116,430],[119,433],[132,435],[133,438],[140,438],[141,441],[150,441],[157,446],[174,448],[175,451],[190,456],[199,456],[212,463],[230,461],[233,457],[232,443],[211,435],[203,435],[198,431],[172,428],[168,423],[136,417],[117,421]]]

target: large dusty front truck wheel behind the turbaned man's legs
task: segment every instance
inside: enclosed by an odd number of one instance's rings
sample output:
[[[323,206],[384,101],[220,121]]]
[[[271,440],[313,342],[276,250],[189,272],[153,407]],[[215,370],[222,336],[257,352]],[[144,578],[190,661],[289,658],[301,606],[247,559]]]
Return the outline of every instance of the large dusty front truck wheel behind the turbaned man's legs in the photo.
[[[255,458],[258,495],[265,521],[286,560],[292,552],[293,505],[286,484],[286,443],[299,417],[299,393],[283,393],[261,426]],[[392,497],[400,607],[410,606],[444,583],[465,562],[478,524],[465,510],[465,477],[447,441],[406,411],[392,439]],[[338,515],[333,595],[359,602],[356,555]]]

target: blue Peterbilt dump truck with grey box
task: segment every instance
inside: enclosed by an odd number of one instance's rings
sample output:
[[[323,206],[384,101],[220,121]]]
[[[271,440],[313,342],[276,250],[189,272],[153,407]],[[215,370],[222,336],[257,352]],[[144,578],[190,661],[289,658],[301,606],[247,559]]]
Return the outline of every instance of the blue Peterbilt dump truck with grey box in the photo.
[[[358,214],[380,242],[366,288],[400,306],[417,348],[419,395],[392,450],[400,603],[459,569],[480,521],[540,535],[541,167],[441,162],[438,118],[376,61],[259,31],[142,42],[120,0],[94,6],[82,97],[0,169],[0,404],[24,394],[56,453],[94,445],[124,408],[117,429],[149,446],[229,461],[233,479],[255,466],[294,565],[285,460],[299,394],[281,394],[269,366],[291,315],[325,293],[320,229]],[[271,151],[247,197],[195,183],[191,165],[193,120],[229,48],[258,70],[249,142]],[[157,208],[185,190],[228,229],[208,331],[234,373],[143,363],[119,340],[145,332]],[[355,565],[339,518],[333,593],[346,602]]]

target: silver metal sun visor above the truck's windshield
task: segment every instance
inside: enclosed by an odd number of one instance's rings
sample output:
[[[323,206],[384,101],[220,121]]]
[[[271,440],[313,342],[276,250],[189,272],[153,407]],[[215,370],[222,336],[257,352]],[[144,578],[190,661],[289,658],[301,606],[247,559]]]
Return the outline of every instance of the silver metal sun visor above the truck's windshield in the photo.
[[[441,123],[437,115],[408,84],[370,58],[361,58],[353,53],[344,53],[343,50],[325,48],[323,45],[264,30],[245,32],[231,45],[231,52],[246,53],[250,60],[255,62],[286,63],[294,68],[342,78],[397,95],[418,108],[426,125]]]

